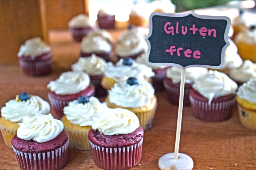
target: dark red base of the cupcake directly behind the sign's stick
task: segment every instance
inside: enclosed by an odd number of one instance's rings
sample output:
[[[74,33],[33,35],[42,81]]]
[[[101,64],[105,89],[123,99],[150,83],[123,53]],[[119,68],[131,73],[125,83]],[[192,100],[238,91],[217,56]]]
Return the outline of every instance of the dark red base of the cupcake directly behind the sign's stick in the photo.
[[[180,92],[180,83],[172,83],[172,80],[165,78],[164,79],[164,87],[166,89],[166,95],[168,100],[178,105],[179,104],[179,92]],[[191,84],[185,84],[184,86],[184,98],[183,98],[183,105],[190,106],[189,101],[189,91],[192,88]]]

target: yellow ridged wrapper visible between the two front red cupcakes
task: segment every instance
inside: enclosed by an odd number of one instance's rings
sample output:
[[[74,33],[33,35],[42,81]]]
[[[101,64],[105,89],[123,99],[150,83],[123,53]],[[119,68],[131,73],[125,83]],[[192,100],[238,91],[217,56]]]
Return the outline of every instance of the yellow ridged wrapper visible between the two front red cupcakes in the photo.
[[[66,130],[66,132],[68,132],[70,147],[78,150],[91,150],[90,142],[88,139],[88,133],[91,128],[87,131],[82,131],[73,130],[64,126],[64,129]]]

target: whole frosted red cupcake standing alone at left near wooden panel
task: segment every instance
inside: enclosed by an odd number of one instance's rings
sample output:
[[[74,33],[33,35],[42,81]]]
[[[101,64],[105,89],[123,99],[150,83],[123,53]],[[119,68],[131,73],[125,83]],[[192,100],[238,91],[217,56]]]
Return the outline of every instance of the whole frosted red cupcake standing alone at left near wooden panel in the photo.
[[[41,76],[51,72],[51,47],[40,37],[31,38],[21,45],[18,58],[25,75]]]

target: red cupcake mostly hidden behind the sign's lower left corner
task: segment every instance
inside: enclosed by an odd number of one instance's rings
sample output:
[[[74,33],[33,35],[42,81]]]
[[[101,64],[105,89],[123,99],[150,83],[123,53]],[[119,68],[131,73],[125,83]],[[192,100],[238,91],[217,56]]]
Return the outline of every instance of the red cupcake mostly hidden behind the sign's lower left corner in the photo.
[[[146,64],[146,53],[142,53],[140,56],[138,56],[135,61],[137,63],[141,63],[141,64]],[[166,76],[166,70],[169,68],[167,66],[149,66],[152,67],[153,72],[155,73],[155,76],[152,77],[152,84],[154,86],[154,88],[156,89],[156,91],[163,91],[164,88],[164,84],[163,84],[163,80]]]

